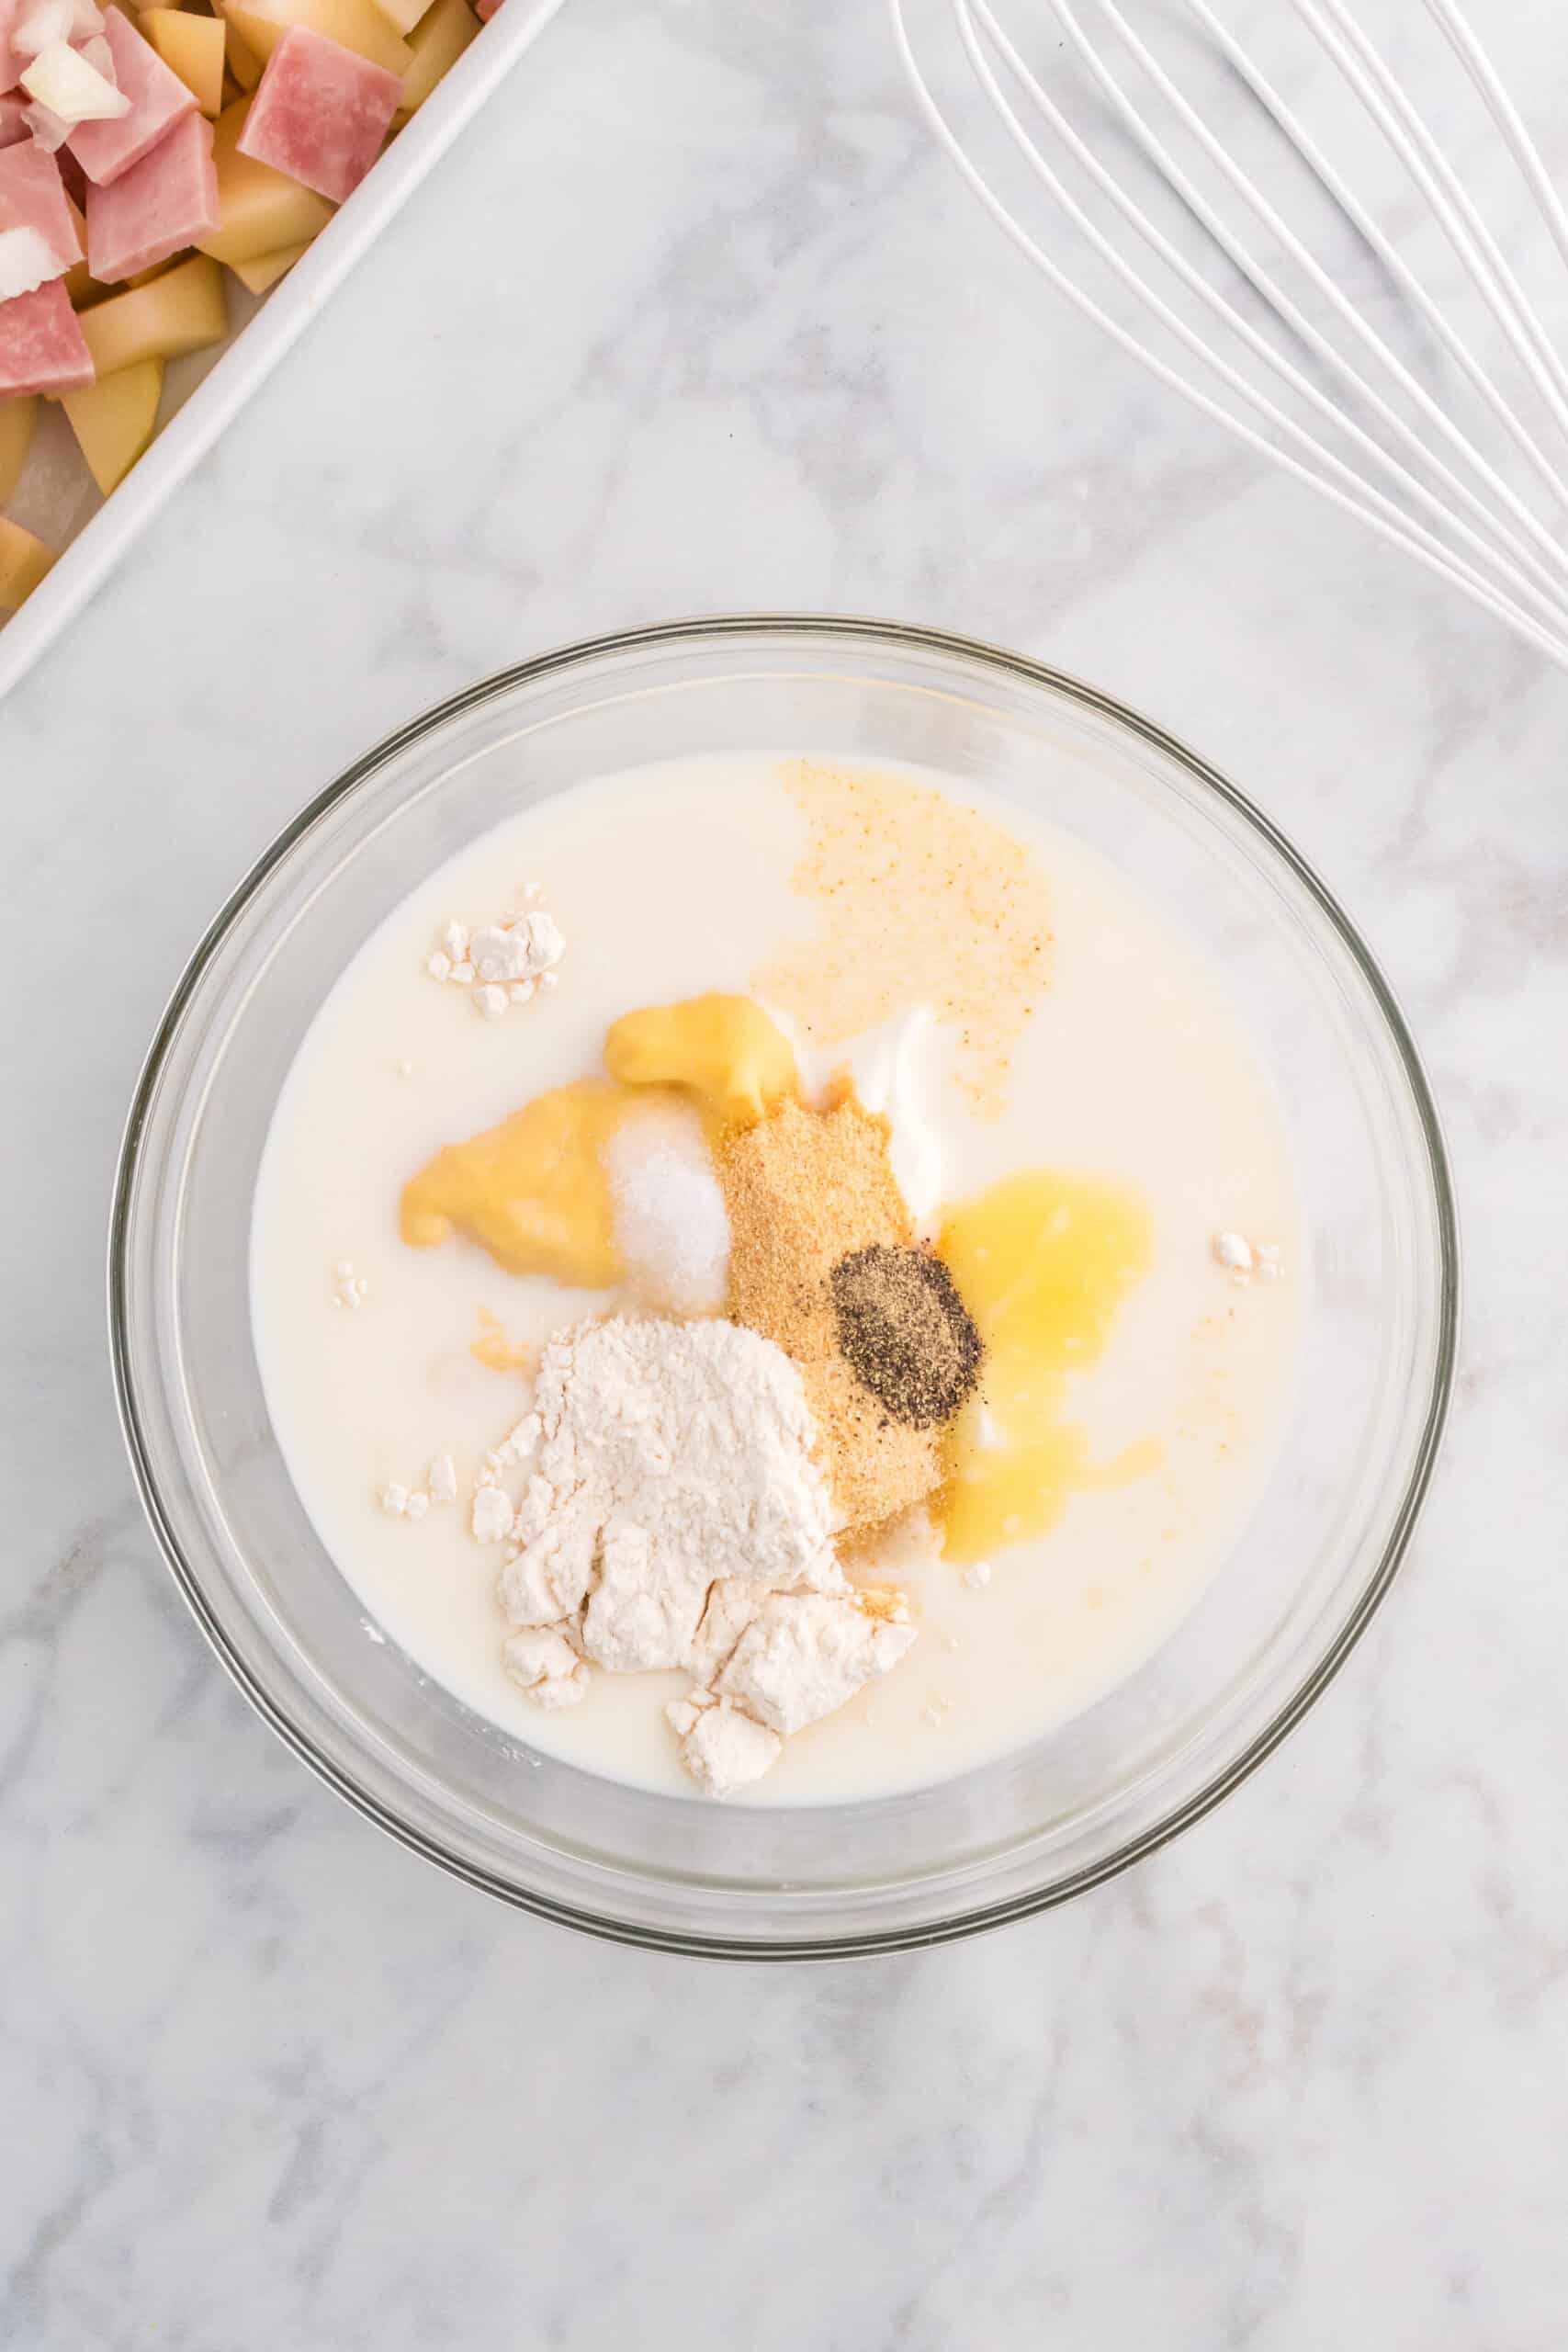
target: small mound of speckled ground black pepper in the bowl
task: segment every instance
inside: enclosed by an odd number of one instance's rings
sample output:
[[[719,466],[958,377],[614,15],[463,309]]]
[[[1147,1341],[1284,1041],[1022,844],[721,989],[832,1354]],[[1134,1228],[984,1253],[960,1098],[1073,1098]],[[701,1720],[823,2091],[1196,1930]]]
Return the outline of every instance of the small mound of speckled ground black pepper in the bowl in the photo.
[[[980,1334],[926,1249],[875,1242],[832,1268],[839,1348],[872,1397],[912,1428],[947,1421],[976,1385]]]

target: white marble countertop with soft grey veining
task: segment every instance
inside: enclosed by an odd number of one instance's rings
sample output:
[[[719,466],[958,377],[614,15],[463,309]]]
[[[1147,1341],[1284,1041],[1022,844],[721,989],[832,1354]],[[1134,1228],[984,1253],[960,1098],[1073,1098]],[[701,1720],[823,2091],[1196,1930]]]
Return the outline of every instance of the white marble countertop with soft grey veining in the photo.
[[[1267,804],[1425,1042],[1469,1319],[1406,1573],[1213,1818],[978,1945],[698,1971],[447,1882],[244,1708],[132,1498],[103,1221],[165,990],[334,769],[790,607],[1018,644]],[[0,2345],[1556,2352],[1566,729],[980,230],[877,7],[571,0],[0,710]]]

